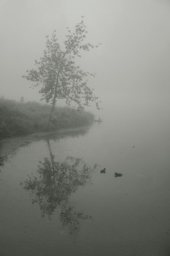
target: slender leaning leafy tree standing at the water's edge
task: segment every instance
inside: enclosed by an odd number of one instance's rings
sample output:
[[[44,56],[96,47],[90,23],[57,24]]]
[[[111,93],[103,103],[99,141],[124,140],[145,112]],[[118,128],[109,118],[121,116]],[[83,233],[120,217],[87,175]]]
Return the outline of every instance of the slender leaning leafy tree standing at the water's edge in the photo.
[[[33,87],[42,84],[42,88],[39,90],[39,93],[42,94],[41,100],[45,99],[47,103],[52,104],[45,130],[49,127],[57,99],[66,99],[66,104],[69,106],[72,102],[75,102],[78,110],[83,110],[85,105],[89,106],[89,102],[94,101],[97,109],[99,109],[98,97],[93,93],[94,89],[87,86],[88,80],[85,80],[87,76],[95,76],[95,74],[82,71],[80,66],[75,66],[73,60],[76,56],[81,57],[80,50],[89,51],[90,48],[98,47],[98,45],[83,43],[87,31],[83,21],[84,17],[81,16],[81,18],[81,22],[75,26],[74,33],[67,27],[68,35],[66,35],[66,41],[64,41],[65,50],[61,50],[56,38],[56,30],[52,33],[51,39],[47,35],[44,56],[40,58],[39,62],[35,60],[37,70],[27,70],[28,75],[22,76],[33,81]]]

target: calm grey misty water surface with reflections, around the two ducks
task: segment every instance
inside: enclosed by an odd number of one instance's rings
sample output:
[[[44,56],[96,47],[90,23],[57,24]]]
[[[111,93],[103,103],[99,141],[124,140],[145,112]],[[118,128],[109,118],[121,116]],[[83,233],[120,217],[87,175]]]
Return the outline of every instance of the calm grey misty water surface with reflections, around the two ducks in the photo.
[[[170,255],[169,125],[116,118],[3,140],[1,256]]]

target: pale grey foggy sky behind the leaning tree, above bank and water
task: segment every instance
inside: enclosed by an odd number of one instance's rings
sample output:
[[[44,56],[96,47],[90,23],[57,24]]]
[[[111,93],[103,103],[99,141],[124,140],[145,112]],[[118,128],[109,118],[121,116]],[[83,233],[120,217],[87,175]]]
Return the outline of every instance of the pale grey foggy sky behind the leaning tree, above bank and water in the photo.
[[[45,36],[56,29],[62,44],[66,27],[74,28],[81,15],[87,42],[102,45],[83,52],[77,65],[97,73],[89,87],[103,107],[115,95],[117,101],[129,94],[145,95],[148,101],[169,98],[168,0],[0,0],[0,96],[39,101],[40,88],[30,89],[31,82],[21,76],[43,56]]]

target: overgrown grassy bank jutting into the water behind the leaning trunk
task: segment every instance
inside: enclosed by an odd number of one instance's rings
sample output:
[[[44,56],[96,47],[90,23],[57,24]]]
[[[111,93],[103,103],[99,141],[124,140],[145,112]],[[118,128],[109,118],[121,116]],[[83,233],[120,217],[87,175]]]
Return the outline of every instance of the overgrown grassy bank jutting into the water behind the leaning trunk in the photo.
[[[22,98],[22,97],[21,97]],[[44,131],[49,119],[51,105],[38,102],[24,103],[0,98],[0,139]],[[78,112],[69,107],[55,107],[49,131],[92,124],[94,115]]]

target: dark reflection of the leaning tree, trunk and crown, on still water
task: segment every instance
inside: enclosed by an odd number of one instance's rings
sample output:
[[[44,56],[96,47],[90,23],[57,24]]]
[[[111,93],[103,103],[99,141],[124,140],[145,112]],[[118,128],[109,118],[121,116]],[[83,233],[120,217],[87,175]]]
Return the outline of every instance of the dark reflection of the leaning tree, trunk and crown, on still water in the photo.
[[[44,158],[39,161],[37,173],[38,176],[28,175],[25,181],[25,190],[31,190],[32,203],[38,203],[42,210],[42,217],[45,214],[50,218],[55,209],[61,207],[60,220],[63,225],[70,225],[70,234],[79,231],[80,220],[91,219],[90,215],[83,212],[73,211],[73,206],[68,206],[69,196],[74,193],[79,186],[85,186],[91,183],[91,173],[97,167],[88,167],[81,158],[66,157],[64,162],[54,161],[50,149],[50,143],[47,140],[50,151],[50,160]]]

